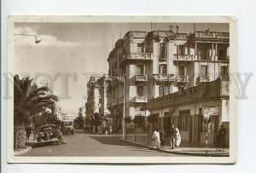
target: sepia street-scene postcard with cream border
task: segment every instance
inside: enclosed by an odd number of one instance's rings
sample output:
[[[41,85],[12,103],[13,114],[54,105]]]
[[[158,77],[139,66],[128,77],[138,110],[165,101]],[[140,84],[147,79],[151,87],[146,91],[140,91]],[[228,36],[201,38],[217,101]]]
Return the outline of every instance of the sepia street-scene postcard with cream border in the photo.
[[[236,18],[9,16],[9,163],[236,162]]]

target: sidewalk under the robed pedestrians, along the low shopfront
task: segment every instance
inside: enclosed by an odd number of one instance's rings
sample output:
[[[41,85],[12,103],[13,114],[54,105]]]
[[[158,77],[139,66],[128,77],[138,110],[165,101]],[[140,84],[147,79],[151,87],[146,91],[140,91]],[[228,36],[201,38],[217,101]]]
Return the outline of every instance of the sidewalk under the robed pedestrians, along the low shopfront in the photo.
[[[151,147],[151,136],[149,136],[148,142],[148,134],[137,134],[137,139],[135,141],[135,136],[128,135],[127,139],[119,139],[120,141],[129,142],[132,144],[136,144],[143,147]],[[148,144],[149,143],[149,144]],[[154,150],[156,148],[154,147]],[[179,148],[171,149],[169,139],[166,139],[166,147],[160,148],[159,152],[164,153],[176,153],[176,154],[183,154],[183,155],[192,155],[192,156],[212,156],[212,157],[229,157],[230,156],[230,149],[226,148],[224,152],[216,151],[216,149],[212,146],[209,146],[206,153],[206,147],[203,143],[191,143],[187,141],[182,141]]]

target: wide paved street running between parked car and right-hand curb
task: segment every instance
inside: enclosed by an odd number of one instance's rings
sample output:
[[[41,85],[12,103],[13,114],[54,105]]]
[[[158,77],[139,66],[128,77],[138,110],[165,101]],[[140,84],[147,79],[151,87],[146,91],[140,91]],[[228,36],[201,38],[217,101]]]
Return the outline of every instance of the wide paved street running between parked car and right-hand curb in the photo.
[[[32,148],[25,156],[181,156],[160,153],[119,141],[120,136],[75,134],[64,136],[66,145]]]

